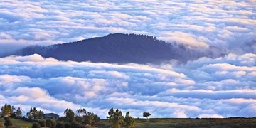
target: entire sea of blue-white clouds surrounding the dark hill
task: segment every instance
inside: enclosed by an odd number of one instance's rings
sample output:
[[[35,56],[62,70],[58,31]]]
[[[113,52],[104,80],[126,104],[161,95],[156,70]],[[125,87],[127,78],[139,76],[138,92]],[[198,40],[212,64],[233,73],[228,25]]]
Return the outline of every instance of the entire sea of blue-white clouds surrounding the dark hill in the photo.
[[[0,58],[0,105],[63,114],[85,107],[142,117],[255,117],[255,0],[0,1],[0,54],[136,33],[223,57],[178,64],[58,61],[34,54]]]

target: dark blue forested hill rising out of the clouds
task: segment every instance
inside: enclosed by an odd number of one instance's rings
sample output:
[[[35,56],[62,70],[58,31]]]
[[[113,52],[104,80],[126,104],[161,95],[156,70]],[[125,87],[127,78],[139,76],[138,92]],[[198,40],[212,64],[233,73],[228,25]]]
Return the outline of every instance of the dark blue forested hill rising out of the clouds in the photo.
[[[29,46],[11,55],[34,53],[45,58],[95,63],[161,63],[168,60],[186,62],[201,56],[214,56],[213,52],[205,53],[181,44],[166,43],[152,36],[123,33],[52,46]]]

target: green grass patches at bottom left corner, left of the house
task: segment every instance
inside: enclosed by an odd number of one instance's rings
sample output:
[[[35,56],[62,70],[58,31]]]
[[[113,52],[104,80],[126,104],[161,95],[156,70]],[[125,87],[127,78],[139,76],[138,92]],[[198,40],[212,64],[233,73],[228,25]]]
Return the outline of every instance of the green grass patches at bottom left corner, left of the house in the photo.
[[[26,122],[21,119],[12,119],[11,122],[14,127],[21,127],[21,128],[31,128],[32,127],[32,122]],[[0,118],[0,128],[4,127],[4,118]]]

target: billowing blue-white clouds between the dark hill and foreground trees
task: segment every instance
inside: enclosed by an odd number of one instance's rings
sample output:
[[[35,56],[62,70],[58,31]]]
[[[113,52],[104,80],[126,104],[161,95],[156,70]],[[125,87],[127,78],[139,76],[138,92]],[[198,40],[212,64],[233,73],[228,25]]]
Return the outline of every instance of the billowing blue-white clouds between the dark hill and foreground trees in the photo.
[[[255,117],[256,55],[230,53],[185,65],[62,62],[40,55],[0,58],[0,105],[62,114],[85,107],[142,117]]]

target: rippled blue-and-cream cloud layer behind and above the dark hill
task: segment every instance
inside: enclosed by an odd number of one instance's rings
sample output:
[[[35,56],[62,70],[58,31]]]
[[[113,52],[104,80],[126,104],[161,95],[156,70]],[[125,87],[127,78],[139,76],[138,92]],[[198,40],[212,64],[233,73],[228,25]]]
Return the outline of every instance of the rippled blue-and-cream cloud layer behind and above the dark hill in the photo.
[[[0,1],[0,53],[137,33],[192,48],[256,52],[256,2],[251,1]]]

